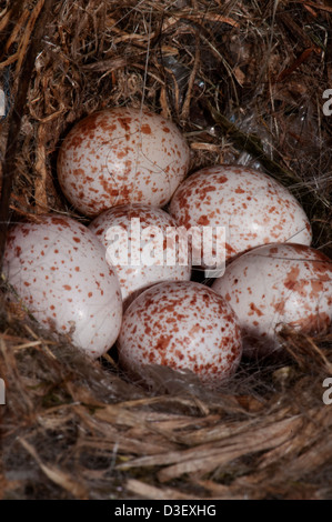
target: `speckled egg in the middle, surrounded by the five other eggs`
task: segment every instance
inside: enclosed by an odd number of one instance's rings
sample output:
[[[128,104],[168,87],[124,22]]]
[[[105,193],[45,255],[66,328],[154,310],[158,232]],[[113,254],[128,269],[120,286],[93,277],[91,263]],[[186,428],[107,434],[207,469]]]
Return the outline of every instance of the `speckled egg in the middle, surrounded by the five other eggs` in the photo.
[[[189,281],[190,252],[178,249],[175,220],[162,209],[140,203],[105,210],[89,225],[117,269],[125,300],[160,281]]]

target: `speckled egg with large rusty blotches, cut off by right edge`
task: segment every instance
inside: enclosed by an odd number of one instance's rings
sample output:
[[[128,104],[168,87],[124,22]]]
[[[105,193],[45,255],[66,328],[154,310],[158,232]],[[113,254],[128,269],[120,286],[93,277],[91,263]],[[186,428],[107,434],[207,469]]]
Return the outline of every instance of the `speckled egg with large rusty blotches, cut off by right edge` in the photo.
[[[332,261],[308,245],[258,247],[232,261],[212,289],[235,311],[248,357],[280,350],[284,325],[312,335],[331,328]]]

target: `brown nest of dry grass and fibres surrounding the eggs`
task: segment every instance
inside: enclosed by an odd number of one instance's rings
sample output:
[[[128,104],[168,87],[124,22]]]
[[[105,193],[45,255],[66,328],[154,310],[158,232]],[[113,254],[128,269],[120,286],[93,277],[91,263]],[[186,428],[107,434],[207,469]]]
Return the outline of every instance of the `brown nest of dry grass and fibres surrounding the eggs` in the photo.
[[[238,162],[286,184],[332,257],[331,17],[323,0],[0,1],[2,248],[9,219],[83,220],[57,183],[61,140],[92,111],[143,104],[185,133],[191,171]],[[2,498],[332,498],[331,335],[284,331],[286,360],[243,362],[214,392],[164,368],[147,390],[4,298]]]

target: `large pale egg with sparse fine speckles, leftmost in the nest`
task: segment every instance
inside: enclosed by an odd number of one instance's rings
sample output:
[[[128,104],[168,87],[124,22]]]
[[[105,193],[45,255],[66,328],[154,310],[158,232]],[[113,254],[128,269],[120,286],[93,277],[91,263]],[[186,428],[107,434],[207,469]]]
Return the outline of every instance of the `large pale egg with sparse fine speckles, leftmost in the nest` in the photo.
[[[93,358],[113,345],[122,320],[120,283],[88,228],[62,215],[13,225],[3,272],[46,328]]]

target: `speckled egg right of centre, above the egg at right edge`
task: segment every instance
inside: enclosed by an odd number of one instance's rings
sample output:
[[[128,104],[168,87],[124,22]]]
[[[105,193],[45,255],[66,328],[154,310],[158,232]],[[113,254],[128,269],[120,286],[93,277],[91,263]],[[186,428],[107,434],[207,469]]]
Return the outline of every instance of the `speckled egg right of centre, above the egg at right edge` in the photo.
[[[227,228],[220,265],[224,258],[259,244],[309,245],[312,240],[308,217],[289,190],[263,172],[241,165],[215,165],[193,173],[175,191],[169,211],[187,229]]]

